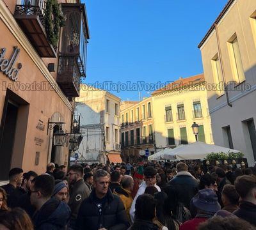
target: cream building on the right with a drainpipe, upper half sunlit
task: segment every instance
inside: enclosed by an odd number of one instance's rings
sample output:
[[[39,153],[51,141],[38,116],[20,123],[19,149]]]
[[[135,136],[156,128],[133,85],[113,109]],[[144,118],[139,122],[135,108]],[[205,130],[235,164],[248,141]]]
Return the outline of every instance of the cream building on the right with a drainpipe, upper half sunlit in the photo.
[[[214,142],[256,160],[256,2],[230,0],[198,45]]]

